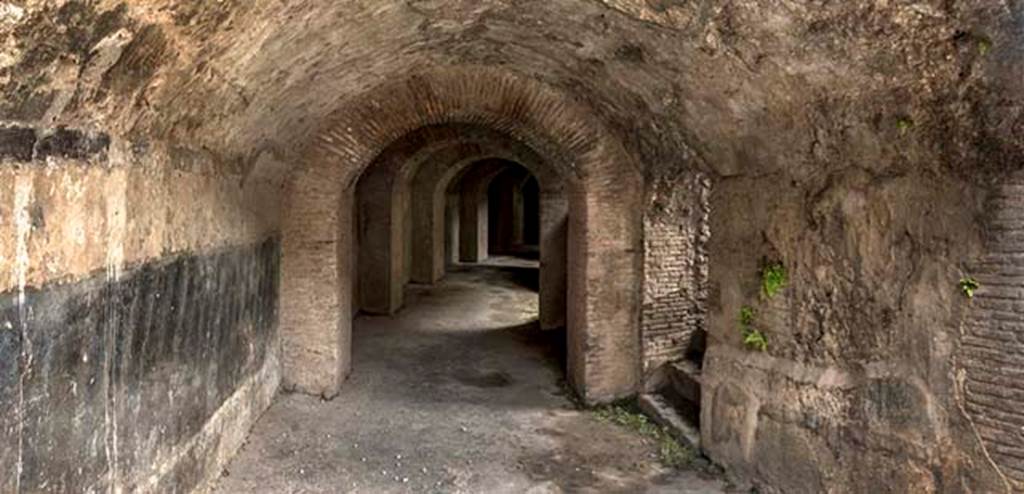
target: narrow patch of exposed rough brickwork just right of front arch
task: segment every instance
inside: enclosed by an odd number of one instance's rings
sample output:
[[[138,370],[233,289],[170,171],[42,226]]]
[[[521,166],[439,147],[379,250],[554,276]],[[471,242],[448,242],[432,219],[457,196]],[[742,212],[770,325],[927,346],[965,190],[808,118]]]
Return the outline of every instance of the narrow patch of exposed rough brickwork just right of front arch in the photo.
[[[678,361],[705,330],[711,181],[698,173],[657,188],[644,214],[644,371]]]

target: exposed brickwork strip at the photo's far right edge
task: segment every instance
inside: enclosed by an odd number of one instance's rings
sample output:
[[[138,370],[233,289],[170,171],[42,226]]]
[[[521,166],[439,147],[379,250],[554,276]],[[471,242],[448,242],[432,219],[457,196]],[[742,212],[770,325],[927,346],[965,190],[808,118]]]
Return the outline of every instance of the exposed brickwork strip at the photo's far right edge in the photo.
[[[974,274],[982,288],[964,322],[966,408],[992,460],[1024,490],[1024,174],[999,186],[989,210]]]

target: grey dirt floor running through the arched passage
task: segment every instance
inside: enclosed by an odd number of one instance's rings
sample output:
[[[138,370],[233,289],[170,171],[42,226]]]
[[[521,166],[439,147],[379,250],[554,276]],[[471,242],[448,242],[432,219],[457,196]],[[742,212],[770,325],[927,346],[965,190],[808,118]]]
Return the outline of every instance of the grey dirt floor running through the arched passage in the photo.
[[[215,492],[723,492],[578,410],[564,333],[536,327],[537,270],[496,264],[412,289],[394,318],[357,318],[341,395],[279,397]]]

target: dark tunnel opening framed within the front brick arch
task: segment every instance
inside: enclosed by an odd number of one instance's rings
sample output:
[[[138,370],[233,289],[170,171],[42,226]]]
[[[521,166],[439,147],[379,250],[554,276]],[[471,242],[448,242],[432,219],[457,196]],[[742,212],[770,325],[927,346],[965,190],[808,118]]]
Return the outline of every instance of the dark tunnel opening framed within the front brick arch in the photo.
[[[544,177],[547,207],[535,171]],[[528,212],[527,182],[534,183]],[[479,127],[428,127],[389,146],[354,187],[356,367],[373,352],[373,338],[366,347],[359,339],[392,326],[442,337],[512,337],[564,373],[567,197],[564,179],[539,155]],[[543,221],[551,225],[544,242]],[[524,243],[527,223],[537,230],[531,248]],[[454,375],[486,366],[467,364]],[[486,372],[463,381],[503,387],[515,374]]]

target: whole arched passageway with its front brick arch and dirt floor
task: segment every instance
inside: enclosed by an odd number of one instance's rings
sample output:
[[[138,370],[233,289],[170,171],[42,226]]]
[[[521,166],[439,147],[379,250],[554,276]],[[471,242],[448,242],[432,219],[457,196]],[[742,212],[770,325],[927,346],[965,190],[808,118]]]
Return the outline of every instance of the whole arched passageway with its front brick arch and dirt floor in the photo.
[[[274,407],[224,492],[324,485],[259,454],[325,434],[351,438],[351,452],[299,456],[323,463],[317,478],[350,465],[351,489],[385,478],[419,491],[526,491],[582,463],[592,466],[580,485],[598,491],[664,475],[636,462],[649,444],[587,412],[552,413],[565,403],[563,373],[591,402],[640,385],[639,303],[628,285],[640,276],[636,170],[543,86],[455,74],[381,89],[403,106],[371,95],[347,110],[295,177],[283,256],[286,384],[341,396],[310,409],[291,395]],[[510,261],[527,239],[538,258]],[[524,269],[540,270],[540,296],[523,286]],[[564,333],[541,330],[559,326]],[[274,441],[296,415],[316,425]],[[528,433],[539,425],[567,431],[559,450],[571,458],[550,457],[550,440]],[[432,446],[410,449],[419,442]],[[719,489],[688,475],[663,482]]]

